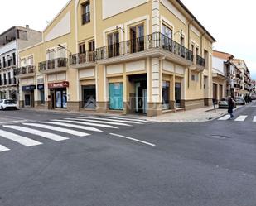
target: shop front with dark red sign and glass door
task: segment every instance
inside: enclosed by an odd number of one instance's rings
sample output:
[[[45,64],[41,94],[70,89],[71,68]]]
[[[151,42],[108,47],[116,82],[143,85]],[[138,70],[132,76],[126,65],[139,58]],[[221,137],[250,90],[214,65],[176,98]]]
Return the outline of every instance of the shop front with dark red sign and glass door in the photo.
[[[64,81],[60,83],[50,83],[48,84],[48,89],[50,89],[49,95],[49,108],[67,108],[67,88],[69,87],[69,82]]]

